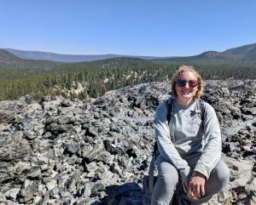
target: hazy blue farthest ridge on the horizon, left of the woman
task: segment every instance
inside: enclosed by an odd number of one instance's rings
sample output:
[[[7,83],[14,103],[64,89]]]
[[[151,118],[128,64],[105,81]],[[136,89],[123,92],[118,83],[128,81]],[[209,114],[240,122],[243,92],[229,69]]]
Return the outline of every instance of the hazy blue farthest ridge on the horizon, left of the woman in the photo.
[[[159,57],[154,57],[154,56],[135,56],[135,55],[120,55],[120,54],[76,55],[76,54],[55,54],[55,53],[43,52],[43,51],[25,51],[25,50],[18,50],[18,49],[12,49],[12,48],[3,48],[3,50],[6,50],[11,54],[15,54],[21,59],[51,60],[51,61],[67,62],[67,63],[68,62],[69,63],[86,62],[86,61],[93,61],[93,60],[106,60],[106,59],[113,59],[117,57],[140,58],[143,60],[159,59]]]

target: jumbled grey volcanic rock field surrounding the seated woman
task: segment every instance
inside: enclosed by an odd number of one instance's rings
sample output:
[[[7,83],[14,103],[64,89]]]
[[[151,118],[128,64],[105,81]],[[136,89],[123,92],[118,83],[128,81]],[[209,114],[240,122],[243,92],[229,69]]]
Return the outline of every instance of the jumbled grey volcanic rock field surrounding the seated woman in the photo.
[[[170,83],[144,83],[95,101],[29,96],[0,102],[0,205],[143,203],[154,111]],[[256,81],[208,81],[230,182],[209,204],[256,204]]]

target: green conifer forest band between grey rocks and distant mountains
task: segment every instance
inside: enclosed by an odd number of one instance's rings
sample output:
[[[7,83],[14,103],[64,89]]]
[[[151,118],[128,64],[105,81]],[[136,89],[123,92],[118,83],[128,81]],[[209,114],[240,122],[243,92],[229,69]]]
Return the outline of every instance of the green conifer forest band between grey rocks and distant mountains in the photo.
[[[256,78],[256,63],[252,61],[236,64],[229,60],[214,61],[212,57],[207,60],[202,56],[200,61],[183,59],[185,60],[172,62],[123,57],[81,63],[57,63],[22,60],[0,50],[0,100],[16,100],[25,94],[31,94],[36,99],[48,94],[62,94],[79,99],[96,98],[114,88],[164,81],[172,77],[173,71],[182,64],[195,65],[204,79]]]

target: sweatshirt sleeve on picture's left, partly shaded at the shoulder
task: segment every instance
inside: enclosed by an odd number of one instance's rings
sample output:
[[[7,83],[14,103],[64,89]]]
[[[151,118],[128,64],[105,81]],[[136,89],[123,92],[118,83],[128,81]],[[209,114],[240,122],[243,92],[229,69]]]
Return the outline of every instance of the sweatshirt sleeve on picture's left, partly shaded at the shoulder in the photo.
[[[160,155],[166,159],[166,162],[172,163],[177,168],[183,183],[189,179],[190,168],[188,162],[183,160],[172,144],[170,129],[166,119],[166,103],[160,105],[155,113],[155,137],[160,151]]]

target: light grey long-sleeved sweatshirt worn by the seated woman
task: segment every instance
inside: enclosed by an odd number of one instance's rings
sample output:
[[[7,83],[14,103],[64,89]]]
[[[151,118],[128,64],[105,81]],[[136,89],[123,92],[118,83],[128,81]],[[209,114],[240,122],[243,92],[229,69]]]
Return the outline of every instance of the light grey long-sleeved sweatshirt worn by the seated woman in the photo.
[[[169,125],[166,118],[168,101],[172,103]],[[177,168],[183,183],[189,179],[192,171],[200,172],[208,179],[221,157],[218,117],[212,105],[204,101],[202,105],[203,122],[199,100],[194,100],[189,106],[183,106],[178,105],[172,97],[159,105],[154,117],[155,136],[160,155]],[[201,157],[194,170],[190,170],[186,160],[199,155]]]

